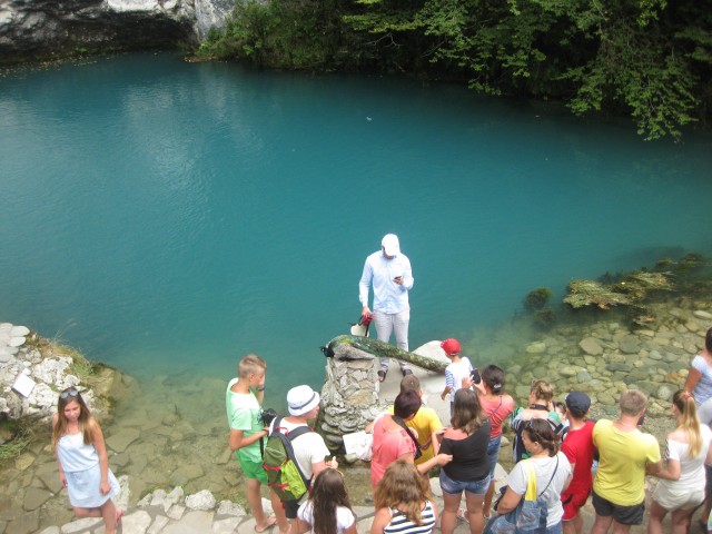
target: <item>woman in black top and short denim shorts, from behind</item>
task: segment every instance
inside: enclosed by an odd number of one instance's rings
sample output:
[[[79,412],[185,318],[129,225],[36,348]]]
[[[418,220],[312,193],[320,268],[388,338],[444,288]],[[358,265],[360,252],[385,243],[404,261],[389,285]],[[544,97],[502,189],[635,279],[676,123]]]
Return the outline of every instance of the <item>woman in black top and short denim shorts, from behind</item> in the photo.
[[[462,494],[465,492],[469,532],[479,534],[484,527],[483,504],[490,487],[490,421],[484,416],[477,394],[458,389],[451,427],[443,434],[438,452],[452,454],[453,461],[441,469],[441,487],[445,510],[441,532],[452,534],[457,521]]]

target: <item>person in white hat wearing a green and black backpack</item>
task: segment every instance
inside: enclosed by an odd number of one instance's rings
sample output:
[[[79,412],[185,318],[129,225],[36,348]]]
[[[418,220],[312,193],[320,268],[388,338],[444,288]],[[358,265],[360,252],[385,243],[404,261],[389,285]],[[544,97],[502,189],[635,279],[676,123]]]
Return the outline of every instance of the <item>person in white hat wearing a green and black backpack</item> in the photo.
[[[293,387],[287,393],[287,405],[289,416],[276,417],[269,425],[263,465],[287,520],[294,520],[301,502],[308,498],[312,481],[326,467],[338,468],[338,463],[335,457],[325,461],[329,449],[307,423],[319,413],[319,394],[309,386]]]

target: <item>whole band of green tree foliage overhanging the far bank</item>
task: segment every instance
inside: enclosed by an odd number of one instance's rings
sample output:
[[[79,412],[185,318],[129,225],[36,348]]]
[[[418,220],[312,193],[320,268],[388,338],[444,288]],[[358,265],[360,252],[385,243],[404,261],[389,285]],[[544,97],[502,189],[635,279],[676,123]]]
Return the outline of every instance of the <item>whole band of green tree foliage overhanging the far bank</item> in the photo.
[[[712,109],[712,10],[693,0],[238,0],[198,55],[466,80],[626,113],[645,139]]]

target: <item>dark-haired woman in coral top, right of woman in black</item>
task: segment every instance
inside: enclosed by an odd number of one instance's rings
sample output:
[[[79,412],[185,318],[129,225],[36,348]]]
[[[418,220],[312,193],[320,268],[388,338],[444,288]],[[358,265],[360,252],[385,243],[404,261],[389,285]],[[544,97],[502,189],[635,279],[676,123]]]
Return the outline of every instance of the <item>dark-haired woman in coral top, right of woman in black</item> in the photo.
[[[500,457],[502,446],[502,423],[514,412],[514,398],[503,393],[504,370],[496,365],[488,365],[482,369],[482,382],[477,386],[479,404],[484,415],[490,419],[490,444],[487,446],[487,459],[490,461],[490,487],[485,495],[484,518],[490,518],[492,497],[494,495],[494,471]]]

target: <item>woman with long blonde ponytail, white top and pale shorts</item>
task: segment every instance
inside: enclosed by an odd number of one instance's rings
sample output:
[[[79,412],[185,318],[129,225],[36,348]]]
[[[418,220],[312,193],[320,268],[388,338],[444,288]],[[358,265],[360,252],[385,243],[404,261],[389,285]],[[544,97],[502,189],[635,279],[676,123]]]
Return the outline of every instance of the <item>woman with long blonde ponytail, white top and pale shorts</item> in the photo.
[[[668,434],[668,465],[652,474],[662,479],[653,493],[649,534],[662,534],[668,512],[672,512],[672,532],[688,532],[693,512],[704,501],[704,464],[712,463],[712,431],[700,424],[694,397],[676,392],[672,414],[678,427]]]

